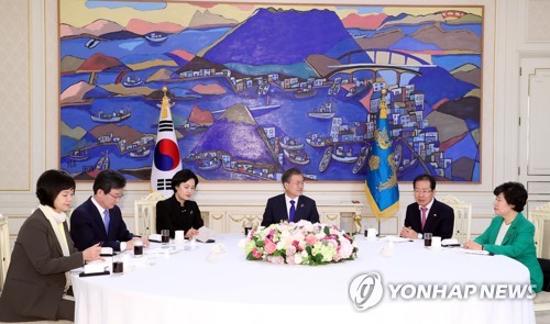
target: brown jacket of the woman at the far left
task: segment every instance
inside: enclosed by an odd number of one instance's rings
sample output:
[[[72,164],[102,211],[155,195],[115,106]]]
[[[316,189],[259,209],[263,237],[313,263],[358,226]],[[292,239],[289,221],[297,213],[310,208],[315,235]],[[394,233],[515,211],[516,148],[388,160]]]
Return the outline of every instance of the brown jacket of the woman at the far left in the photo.
[[[0,297],[0,321],[57,320],[66,284],[65,272],[84,265],[64,223],[70,256],[63,250],[52,224],[36,209],[19,231]]]

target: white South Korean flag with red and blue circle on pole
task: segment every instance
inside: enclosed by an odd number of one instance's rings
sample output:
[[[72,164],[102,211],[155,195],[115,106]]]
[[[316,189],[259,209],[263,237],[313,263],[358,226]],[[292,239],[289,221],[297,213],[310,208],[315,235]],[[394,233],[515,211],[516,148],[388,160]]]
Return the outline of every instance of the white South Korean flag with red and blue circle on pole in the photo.
[[[170,197],[172,177],[182,170],[182,158],[177,146],[174,123],[172,122],[170,101],[163,87],[163,102],[161,104],[161,116],[158,118],[158,132],[156,133],[155,155],[151,168],[151,189]]]

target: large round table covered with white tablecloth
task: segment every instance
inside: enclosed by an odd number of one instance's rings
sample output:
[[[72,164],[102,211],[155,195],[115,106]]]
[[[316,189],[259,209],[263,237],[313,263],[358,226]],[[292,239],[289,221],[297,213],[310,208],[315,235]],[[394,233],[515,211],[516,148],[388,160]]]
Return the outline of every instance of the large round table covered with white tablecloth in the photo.
[[[152,243],[144,257],[125,256],[130,271],[123,275],[74,273],[76,323],[535,323],[531,299],[480,294],[482,284],[529,283],[528,269],[508,257],[431,250],[422,241],[394,243],[392,256],[383,256],[386,241],[356,236],[355,260],[274,265],[246,260],[239,247],[243,238],[218,236],[216,244],[227,250],[218,255],[211,253],[213,244],[198,243],[193,250],[172,254],[167,253],[172,247]],[[350,283],[372,272],[382,278],[383,298],[377,305],[356,311]],[[391,284],[394,289],[408,284],[409,290],[394,298]],[[459,298],[447,290],[449,299],[410,298],[410,288],[418,284],[475,286],[477,293]]]

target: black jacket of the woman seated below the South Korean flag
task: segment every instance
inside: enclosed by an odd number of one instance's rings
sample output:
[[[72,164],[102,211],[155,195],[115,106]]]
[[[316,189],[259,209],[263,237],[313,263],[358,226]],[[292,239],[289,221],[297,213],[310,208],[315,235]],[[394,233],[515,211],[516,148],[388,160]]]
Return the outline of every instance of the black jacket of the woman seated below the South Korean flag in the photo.
[[[198,230],[205,225],[200,216],[199,206],[195,201],[186,200],[184,206],[173,194],[170,198],[156,203],[156,232],[170,230],[170,237],[174,238],[176,231],[189,231],[191,227]]]

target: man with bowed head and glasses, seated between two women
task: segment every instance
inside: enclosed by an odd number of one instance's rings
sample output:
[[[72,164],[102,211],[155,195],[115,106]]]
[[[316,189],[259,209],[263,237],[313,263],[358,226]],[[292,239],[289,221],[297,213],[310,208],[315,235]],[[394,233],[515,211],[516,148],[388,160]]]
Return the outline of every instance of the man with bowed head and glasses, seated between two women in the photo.
[[[97,243],[113,250],[133,249],[133,237],[117,203],[124,195],[127,179],[114,170],[101,171],[94,181],[94,195],[70,215],[70,237],[84,250]],[[148,245],[143,237],[145,246]]]

